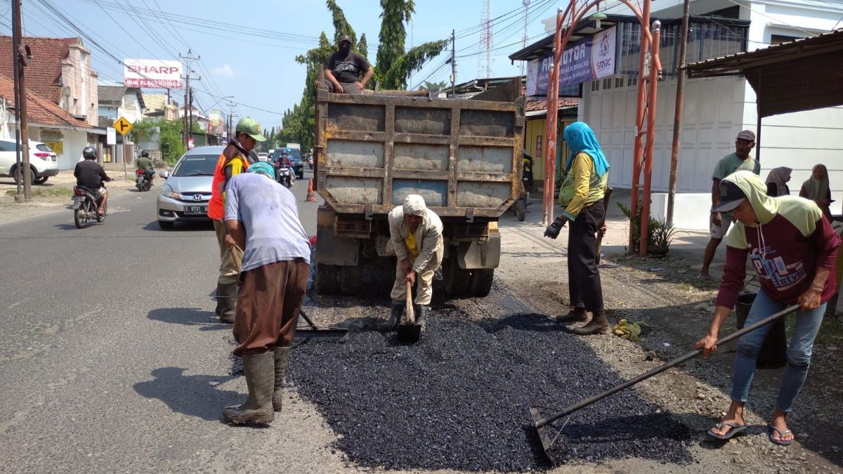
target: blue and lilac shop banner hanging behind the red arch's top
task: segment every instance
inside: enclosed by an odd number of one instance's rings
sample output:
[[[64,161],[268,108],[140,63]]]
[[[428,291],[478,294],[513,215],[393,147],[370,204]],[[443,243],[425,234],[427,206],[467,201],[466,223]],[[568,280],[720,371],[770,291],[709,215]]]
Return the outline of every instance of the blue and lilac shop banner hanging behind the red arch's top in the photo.
[[[562,52],[559,89],[615,74],[615,32],[600,31],[566,46]],[[546,95],[553,53],[527,65],[527,95]]]

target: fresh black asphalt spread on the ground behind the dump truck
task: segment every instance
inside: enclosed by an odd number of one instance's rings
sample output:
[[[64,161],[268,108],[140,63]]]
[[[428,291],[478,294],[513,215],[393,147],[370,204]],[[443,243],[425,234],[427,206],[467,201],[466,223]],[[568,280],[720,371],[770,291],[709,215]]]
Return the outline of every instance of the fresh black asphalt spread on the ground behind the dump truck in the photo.
[[[525,471],[549,466],[529,407],[561,409],[619,384],[581,339],[546,315],[432,317],[415,345],[352,331],[295,347],[288,380],[360,466]],[[636,391],[576,412],[551,451],[558,463],[691,461],[690,430]]]

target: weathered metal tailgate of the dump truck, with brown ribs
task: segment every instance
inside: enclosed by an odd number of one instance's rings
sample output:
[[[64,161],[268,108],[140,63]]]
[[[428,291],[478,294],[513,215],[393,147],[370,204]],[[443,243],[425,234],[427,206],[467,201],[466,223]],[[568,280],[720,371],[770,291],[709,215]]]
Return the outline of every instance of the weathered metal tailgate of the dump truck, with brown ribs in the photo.
[[[319,90],[316,190],[336,212],[389,213],[419,194],[443,218],[497,219],[518,197],[524,99]]]

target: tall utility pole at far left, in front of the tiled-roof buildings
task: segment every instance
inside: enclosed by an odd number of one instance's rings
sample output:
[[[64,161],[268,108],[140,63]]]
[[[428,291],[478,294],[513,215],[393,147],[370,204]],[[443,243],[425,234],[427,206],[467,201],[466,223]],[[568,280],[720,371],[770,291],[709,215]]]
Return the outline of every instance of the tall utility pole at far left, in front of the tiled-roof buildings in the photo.
[[[12,57],[14,58],[15,69],[15,119],[19,132],[15,132],[16,149],[15,154],[18,158],[16,169],[22,179],[18,180],[18,194],[14,197],[15,201],[31,201],[32,200],[32,176],[30,171],[30,134],[29,134],[29,117],[26,113],[26,81],[24,80],[24,70],[29,66],[30,46],[21,45],[21,27],[20,27],[20,0],[12,0],[12,47],[14,49]],[[23,159],[20,159],[23,153]],[[24,183],[24,193],[21,196],[20,182]]]

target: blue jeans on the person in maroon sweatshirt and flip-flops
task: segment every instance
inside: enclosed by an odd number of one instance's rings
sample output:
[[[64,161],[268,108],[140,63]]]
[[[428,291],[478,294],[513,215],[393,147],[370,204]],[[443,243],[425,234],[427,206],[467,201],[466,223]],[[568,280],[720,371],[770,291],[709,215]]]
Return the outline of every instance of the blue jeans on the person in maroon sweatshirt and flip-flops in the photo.
[[[787,304],[776,303],[763,291],[758,292],[744,326],[750,326],[765,317],[784,310]],[[776,408],[782,412],[789,413],[793,407],[793,401],[805,382],[808,374],[808,365],[811,364],[811,349],[813,339],[817,337],[819,326],[823,322],[825,304],[820,304],[816,310],[798,310],[796,313],[796,327],[793,330],[793,337],[790,346],[787,347],[787,367],[781,376],[781,387],[779,397],[776,399]],[[732,377],[732,400],[747,401],[749,396],[749,385],[752,385],[752,376],[755,373],[755,359],[758,358],[758,351],[764,338],[770,331],[772,325],[762,326],[755,331],[744,334],[738,339],[738,351],[735,354],[735,367]]]

